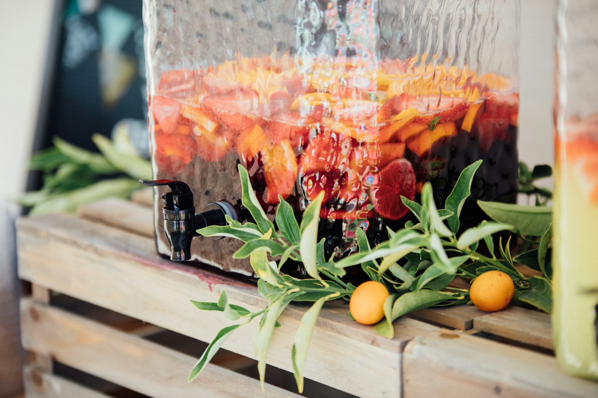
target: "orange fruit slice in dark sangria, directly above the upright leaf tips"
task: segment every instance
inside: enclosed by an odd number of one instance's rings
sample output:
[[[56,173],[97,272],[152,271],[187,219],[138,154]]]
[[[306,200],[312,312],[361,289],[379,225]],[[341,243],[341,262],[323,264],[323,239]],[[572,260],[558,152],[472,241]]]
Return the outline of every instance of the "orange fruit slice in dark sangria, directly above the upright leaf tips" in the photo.
[[[260,151],[264,165],[268,203],[278,203],[278,195],[286,199],[297,181],[297,159],[288,141],[266,145]]]

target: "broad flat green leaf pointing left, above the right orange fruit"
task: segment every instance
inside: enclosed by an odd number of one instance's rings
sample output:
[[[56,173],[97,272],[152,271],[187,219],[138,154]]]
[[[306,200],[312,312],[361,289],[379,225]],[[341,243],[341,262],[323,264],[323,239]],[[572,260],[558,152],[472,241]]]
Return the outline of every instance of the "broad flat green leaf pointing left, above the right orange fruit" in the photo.
[[[524,235],[541,236],[545,226],[552,221],[552,207],[521,206],[481,200],[478,200],[478,205],[494,221],[513,225],[511,231],[520,229]]]

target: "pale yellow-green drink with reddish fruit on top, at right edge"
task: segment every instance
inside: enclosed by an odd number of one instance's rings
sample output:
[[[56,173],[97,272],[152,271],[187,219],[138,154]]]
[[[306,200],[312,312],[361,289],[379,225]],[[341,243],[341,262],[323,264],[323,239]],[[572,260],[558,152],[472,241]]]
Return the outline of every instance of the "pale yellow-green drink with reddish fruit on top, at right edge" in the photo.
[[[566,372],[598,379],[598,114],[557,136],[553,335]]]

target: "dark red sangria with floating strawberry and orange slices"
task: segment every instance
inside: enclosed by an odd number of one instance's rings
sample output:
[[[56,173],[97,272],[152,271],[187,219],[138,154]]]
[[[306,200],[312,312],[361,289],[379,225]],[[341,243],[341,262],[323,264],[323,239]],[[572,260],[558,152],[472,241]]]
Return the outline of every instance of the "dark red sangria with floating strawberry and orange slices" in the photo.
[[[355,250],[358,226],[374,243],[385,224],[402,227],[400,196],[414,200],[426,181],[444,207],[460,172],[481,159],[462,212],[463,227],[477,225],[475,200],[517,194],[518,93],[498,94],[508,85],[413,60],[369,71],[350,60],[308,68],[289,56],[239,57],[165,72],[149,99],[154,177],[187,182],[196,209],[240,203],[239,162],[271,215],[279,196],[299,211],[324,191],[321,235],[341,254]],[[218,244],[199,244],[210,264],[231,261]]]

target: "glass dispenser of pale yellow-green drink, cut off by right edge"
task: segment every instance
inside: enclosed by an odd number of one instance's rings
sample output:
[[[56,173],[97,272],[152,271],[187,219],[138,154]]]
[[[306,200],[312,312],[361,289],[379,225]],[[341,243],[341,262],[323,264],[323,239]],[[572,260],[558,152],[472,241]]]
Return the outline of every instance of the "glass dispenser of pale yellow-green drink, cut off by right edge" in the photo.
[[[598,3],[557,13],[554,348],[566,372],[598,379]]]

